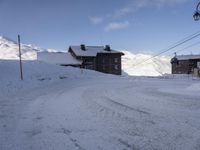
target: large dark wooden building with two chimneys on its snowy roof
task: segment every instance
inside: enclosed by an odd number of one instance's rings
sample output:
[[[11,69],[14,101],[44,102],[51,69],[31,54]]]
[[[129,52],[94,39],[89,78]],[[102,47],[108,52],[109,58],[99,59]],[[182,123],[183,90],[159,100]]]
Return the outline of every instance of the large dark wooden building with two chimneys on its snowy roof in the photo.
[[[103,73],[121,75],[122,52],[112,50],[110,46],[70,46],[68,50],[77,60],[81,60],[85,69]]]

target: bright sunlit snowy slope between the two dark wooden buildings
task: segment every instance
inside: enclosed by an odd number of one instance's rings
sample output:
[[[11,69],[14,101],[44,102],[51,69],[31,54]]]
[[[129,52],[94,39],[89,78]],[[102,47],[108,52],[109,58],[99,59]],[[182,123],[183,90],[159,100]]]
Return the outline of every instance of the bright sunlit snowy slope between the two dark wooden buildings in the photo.
[[[131,76],[160,76],[163,74],[170,74],[171,64],[170,58],[166,56],[159,56],[153,58],[145,63],[141,63],[152,57],[148,54],[133,54],[128,51],[123,51],[125,54],[122,57],[123,71]]]

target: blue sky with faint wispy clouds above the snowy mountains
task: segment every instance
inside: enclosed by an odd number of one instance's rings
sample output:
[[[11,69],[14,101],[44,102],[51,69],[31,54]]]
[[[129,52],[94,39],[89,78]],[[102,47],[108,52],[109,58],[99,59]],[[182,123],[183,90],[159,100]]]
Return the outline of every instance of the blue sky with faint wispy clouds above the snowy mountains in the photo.
[[[60,50],[83,43],[157,53],[200,30],[192,17],[197,2],[0,0],[0,35],[16,39],[21,34],[23,43]],[[200,45],[183,53],[200,53]]]

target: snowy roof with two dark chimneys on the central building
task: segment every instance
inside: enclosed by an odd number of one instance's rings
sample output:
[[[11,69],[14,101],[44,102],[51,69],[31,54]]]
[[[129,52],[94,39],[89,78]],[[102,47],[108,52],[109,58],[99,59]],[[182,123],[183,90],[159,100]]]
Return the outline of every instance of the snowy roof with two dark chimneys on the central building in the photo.
[[[116,50],[105,50],[104,46],[85,46],[86,50],[82,50],[81,46],[70,46],[76,56],[91,56],[95,57],[98,53],[122,53]]]

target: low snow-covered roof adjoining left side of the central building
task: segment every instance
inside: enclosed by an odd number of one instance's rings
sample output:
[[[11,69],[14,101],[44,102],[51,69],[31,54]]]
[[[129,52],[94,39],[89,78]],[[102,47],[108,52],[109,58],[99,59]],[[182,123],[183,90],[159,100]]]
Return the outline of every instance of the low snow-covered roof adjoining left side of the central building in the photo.
[[[70,53],[63,52],[38,52],[37,60],[43,61],[49,64],[60,65],[80,65],[81,61],[76,60]]]

